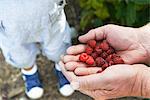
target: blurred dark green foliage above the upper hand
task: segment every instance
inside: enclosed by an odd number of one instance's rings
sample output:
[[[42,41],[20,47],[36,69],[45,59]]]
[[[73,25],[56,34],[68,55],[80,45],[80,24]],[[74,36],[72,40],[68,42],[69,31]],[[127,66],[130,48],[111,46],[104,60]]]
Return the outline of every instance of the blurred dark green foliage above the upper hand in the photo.
[[[109,23],[140,27],[150,21],[150,0],[70,0],[70,4],[81,31]]]

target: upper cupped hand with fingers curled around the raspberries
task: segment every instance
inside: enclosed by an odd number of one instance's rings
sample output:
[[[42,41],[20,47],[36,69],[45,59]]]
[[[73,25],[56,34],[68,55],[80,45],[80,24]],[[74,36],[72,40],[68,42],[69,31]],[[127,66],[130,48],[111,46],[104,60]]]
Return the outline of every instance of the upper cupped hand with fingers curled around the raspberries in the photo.
[[[142,31],[141,31],[142,30]],[[87,34],[80,36],[79,40],[82,43],[86,43],[88,40],[96,39],[102,40],[106,39],[107,42],[117,50],[117,54],[120,55],[126,64],[134,63],[148,63],[149,54],[145,49],[145,41],[148,36],[144,34],[144,28],[130,28],[122,27],[117,25],[105,25],[96,29],[89,31]],[[143,34],[146,37],[143,37]],[[143,39],[142,39],[142,38]],[[81,67],[84,75],[96,73],[101,70],[101,68],[86,69],[87,65],[78,62],[79,55],[85,52],[86,46],[84,44],[71,46],[67,50],[66,56],[64,56],[64,63],[67,70],[74,71],[77,75],[78,70],[76,67]]]

